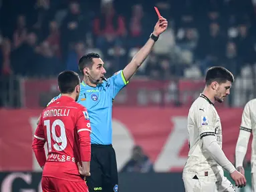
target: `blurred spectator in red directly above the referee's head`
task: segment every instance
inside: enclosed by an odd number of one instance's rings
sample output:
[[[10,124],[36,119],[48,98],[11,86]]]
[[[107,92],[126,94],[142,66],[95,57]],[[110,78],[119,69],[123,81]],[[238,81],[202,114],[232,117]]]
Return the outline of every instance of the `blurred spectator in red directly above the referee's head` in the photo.
[[[109,47],[120,44],[120,39],[126,35],[124,18],[118,15],[112,2],[102,5],[100,17],[94,19],[94,35],[96,46],[106,53]]]

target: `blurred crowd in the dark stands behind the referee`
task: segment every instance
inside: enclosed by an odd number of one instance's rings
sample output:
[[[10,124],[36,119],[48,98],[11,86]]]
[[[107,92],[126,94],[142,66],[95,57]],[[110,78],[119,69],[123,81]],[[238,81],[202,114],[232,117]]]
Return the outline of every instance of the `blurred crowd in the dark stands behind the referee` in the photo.
[[[200,78],[212,65],[223,65],[237,77],[253,75],[252,0],[3,0],[0,72],[41,77],[64,69],[78,71],[78,59],[96,52],[112,75],[152,33],[157,21],[154,5],[169,27],[137,75]]]

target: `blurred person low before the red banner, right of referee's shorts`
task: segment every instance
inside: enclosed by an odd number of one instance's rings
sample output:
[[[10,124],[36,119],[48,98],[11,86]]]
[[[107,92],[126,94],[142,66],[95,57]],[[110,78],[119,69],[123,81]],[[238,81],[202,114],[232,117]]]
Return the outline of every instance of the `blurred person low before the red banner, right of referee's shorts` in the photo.
[[[153,164],[150,159],[144,154],[142,148],[136,145],[132,149],[132,158],[124,165],[121,173],[138,172],[149,173],[154,172]]]

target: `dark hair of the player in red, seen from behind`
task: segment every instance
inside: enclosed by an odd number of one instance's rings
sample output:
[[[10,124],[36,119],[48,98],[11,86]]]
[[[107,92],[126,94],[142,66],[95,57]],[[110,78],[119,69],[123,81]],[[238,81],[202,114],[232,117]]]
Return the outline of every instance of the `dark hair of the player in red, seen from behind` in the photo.
[[[80,85],[80,77],[74,71],[62,71],[57,77],[60,93],[73,93],[77,85]]]

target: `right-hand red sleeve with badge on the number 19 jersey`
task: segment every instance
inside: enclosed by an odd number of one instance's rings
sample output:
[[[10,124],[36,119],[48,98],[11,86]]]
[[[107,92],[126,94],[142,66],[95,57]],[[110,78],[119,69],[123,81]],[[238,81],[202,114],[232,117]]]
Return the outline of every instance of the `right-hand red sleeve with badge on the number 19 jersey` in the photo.
[[[91,161],[91,125],[88,111],[85,107],[77,113],[76,131],[78,131],[78,140],[80,143],[81,161]]]

